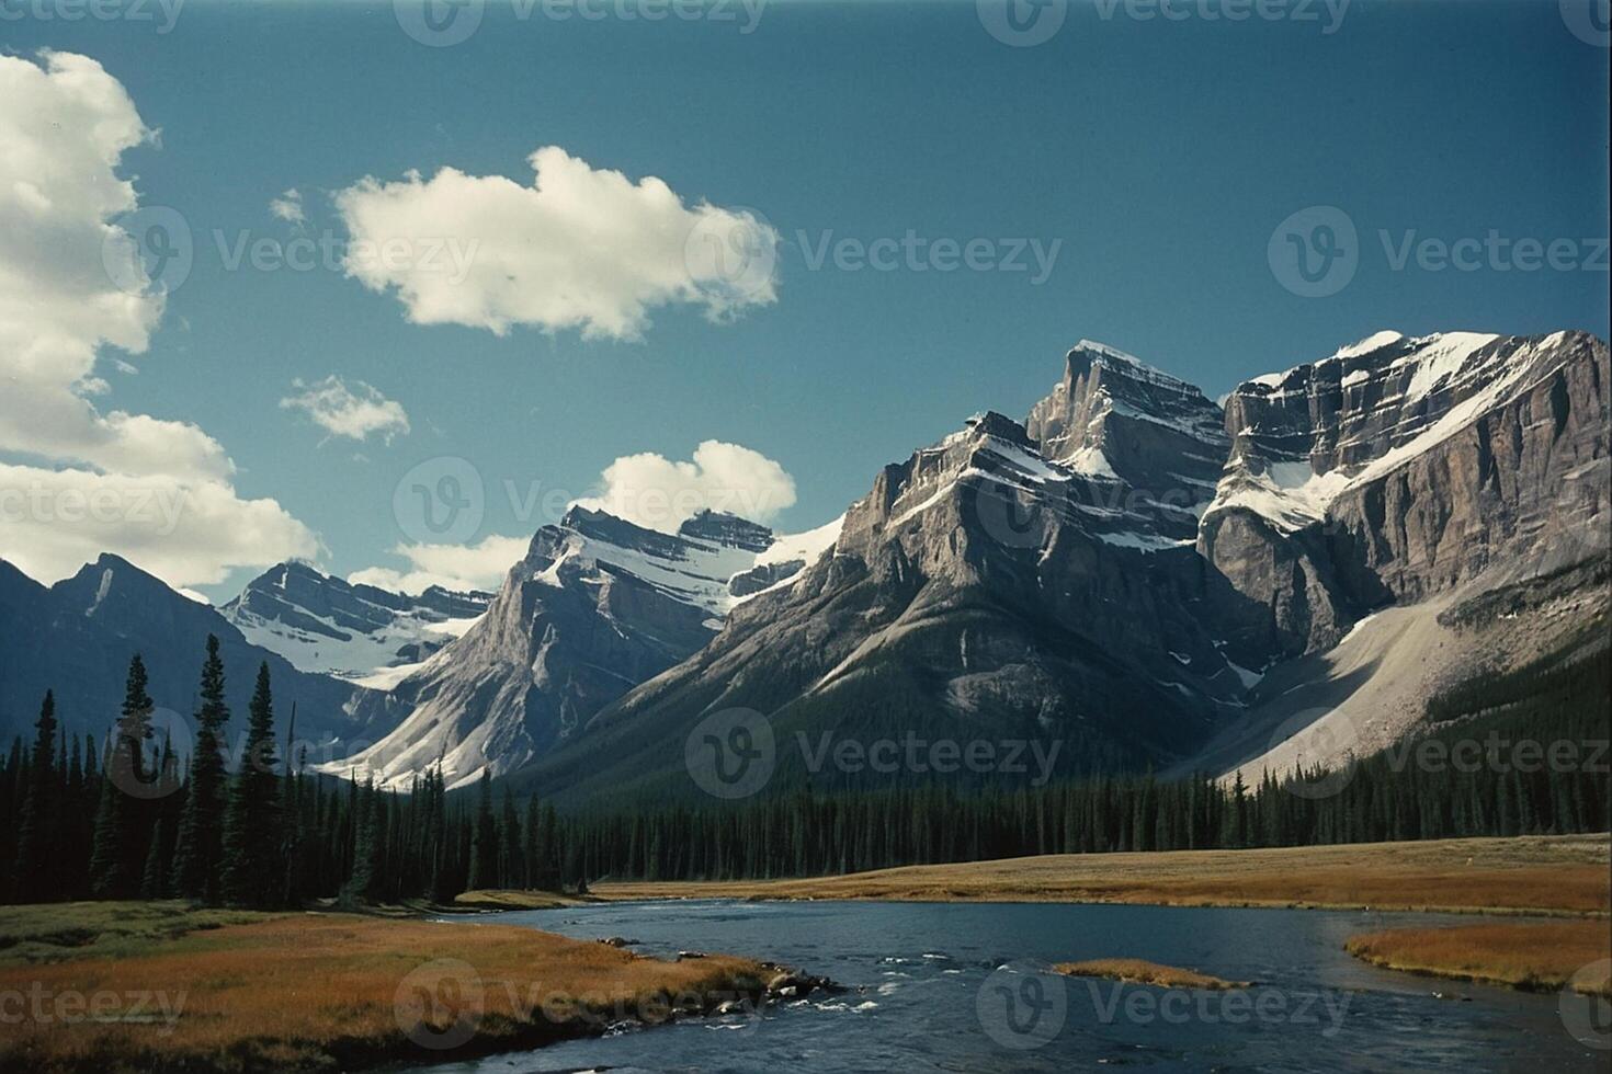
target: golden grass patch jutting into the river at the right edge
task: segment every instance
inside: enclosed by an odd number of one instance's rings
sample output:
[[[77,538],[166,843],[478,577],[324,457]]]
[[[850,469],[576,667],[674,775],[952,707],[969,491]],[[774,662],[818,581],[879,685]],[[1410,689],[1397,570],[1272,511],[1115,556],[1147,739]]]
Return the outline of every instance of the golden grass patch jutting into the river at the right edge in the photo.
[[[1491,921],[1448,929],[1388,929],[1351,936],[1356,958],[1386,969],[1612,998],[1612,926],[1607,921]]]

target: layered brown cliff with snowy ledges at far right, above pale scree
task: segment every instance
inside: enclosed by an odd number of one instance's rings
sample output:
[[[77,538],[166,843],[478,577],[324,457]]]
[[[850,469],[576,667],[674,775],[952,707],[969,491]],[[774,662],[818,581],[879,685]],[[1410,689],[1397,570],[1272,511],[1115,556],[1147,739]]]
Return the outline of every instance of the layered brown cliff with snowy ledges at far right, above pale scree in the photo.
[[[1241,385],[1199,551],[1280,652],[1498,568],[1606,554],[1607,346],[1378,333]]]

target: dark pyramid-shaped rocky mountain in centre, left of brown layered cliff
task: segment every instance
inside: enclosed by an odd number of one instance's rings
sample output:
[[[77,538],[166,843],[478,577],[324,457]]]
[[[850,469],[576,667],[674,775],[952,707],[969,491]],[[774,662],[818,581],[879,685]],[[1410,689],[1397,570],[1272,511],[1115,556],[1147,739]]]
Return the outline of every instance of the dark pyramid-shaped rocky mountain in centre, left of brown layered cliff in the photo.
[[[846,726],[1057,741],[1064,773],[1191,750],[1253,678],[1214,626],[1238,597],[1194,551],[1220,411],[1085,343],[1030,427],[1053,448],[983,414],[883,467],[832,556],[735,609],[534,778],[632,786],[666,771],[667,741],[733,707],[785,741]]]

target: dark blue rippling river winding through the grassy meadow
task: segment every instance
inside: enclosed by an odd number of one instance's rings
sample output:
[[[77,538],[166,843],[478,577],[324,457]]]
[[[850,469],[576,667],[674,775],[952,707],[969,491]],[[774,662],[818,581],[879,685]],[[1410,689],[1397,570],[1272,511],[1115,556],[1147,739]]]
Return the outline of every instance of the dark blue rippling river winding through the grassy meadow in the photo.
[[[459,918],[459,921],[464,921]],[[764,1014],[629,1029],[418,1066],[511,1071],[1606,1071],[1556,995],[1365,966],[1352,932],[1428,915],[1062,903],[653,902],[477,916],[635,950],[775,960],[848,985]],[[1470,918],[1465,918],[1470,921]],[[1454,921],[1452,921],[1454,923]],[[466,924],[464,927],[472,927]],[[1254,989],[1164,990],[1048,976],[1135,956]]]

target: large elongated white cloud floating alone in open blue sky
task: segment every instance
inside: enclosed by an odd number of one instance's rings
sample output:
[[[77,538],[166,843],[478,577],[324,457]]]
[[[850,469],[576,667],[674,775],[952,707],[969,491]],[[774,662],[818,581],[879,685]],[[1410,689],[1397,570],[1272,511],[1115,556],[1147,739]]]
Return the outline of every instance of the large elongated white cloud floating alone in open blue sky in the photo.
[[[672,303],[721,320],[775,301],[779,235],[756,214],[688,208],[653,176],[632,182],[558,147],[530,164],[532,185],[443,167],[339,192],[348,275],[395,290],[416,324],[498,335],[532,325],[635,340]]]

